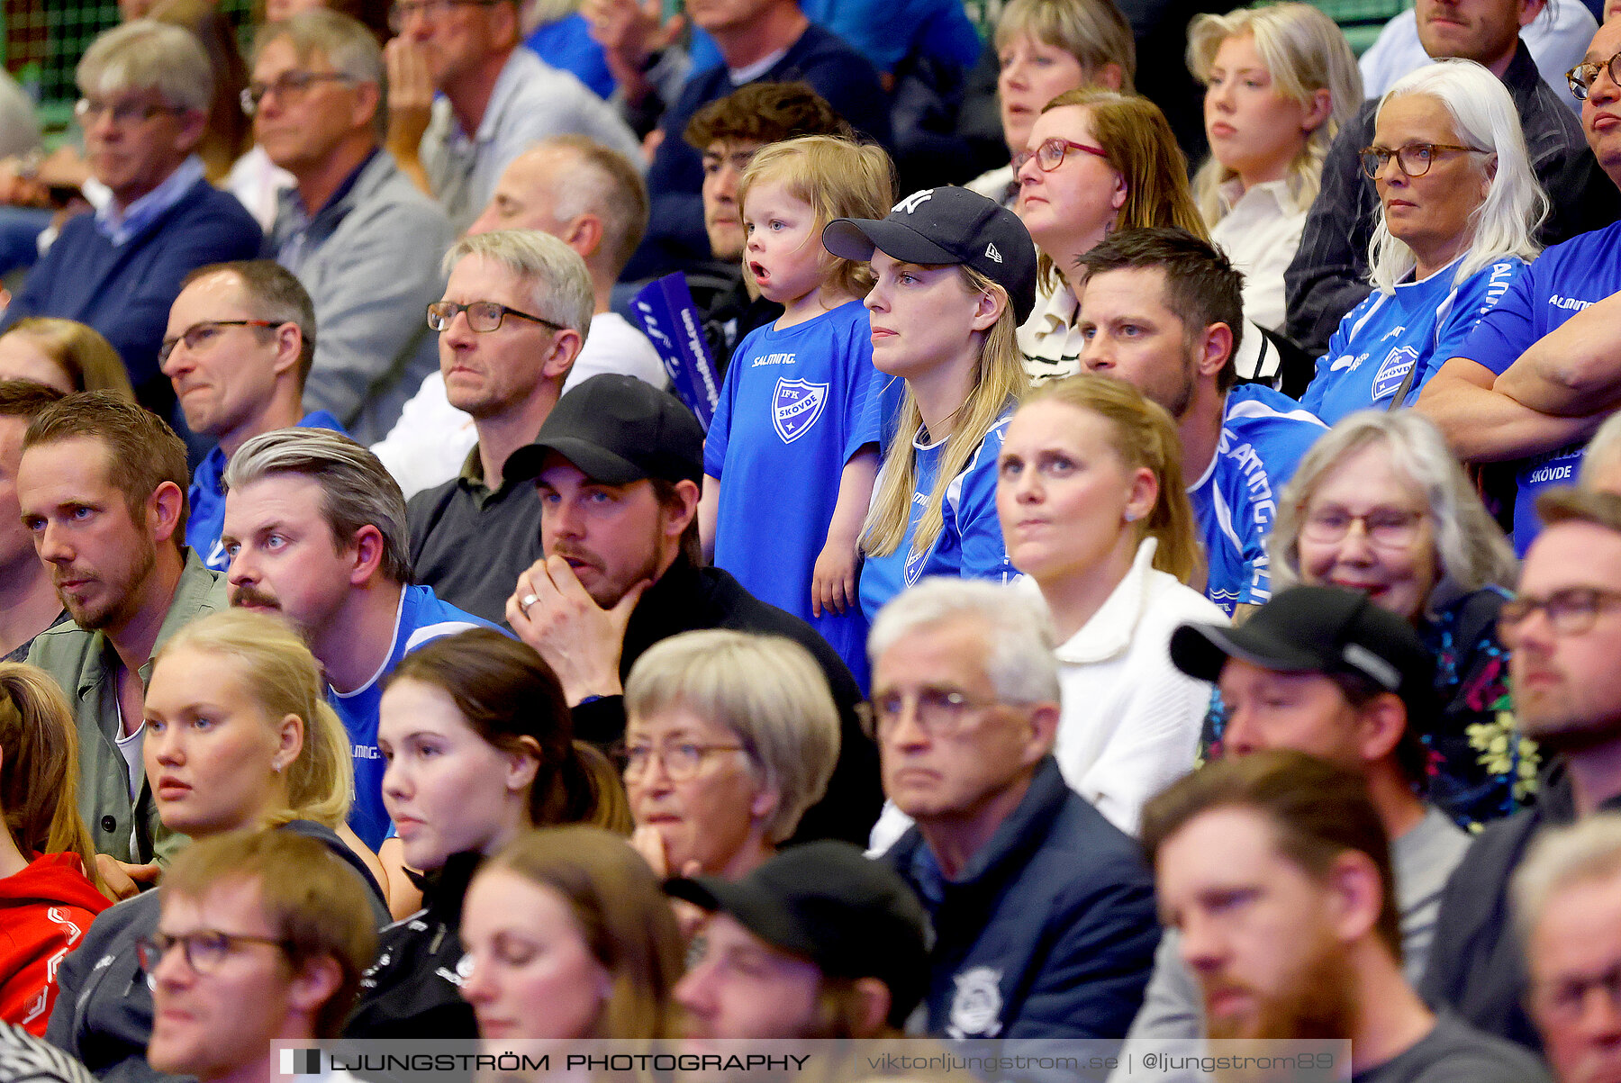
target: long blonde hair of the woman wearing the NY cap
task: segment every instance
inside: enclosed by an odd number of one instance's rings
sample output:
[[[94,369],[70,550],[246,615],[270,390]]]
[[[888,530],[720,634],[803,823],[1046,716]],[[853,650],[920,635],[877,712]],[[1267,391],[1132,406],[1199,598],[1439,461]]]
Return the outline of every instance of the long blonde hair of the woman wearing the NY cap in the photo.
[[[1002,298],[1002,315],[981,339],[979,358],[974,362],[974,384],[956,412],[952,436],[945,441],[940,470],[917,522],[917,532],[913,535],[914,553],[927,551],[939,540],[945,525],[945,490],[950,488],[952,478],[968,467],[968,460],[979,451],[997,418],[1029,389],[1024,355],[1018,349],[1018,316],[1013,315],[1013,302],[1007,290],[971,268],[963,266],[960,271],[973,293],[994,292]],[[861,548],[869,556],[888,556],[906,540],[913,491],[917,488],[917,456],[913,443],[922,431],[922,412],[908,387],[901,402],[900,430],[883,456],[877,493],[867,511],[867,522],[861,529]]]

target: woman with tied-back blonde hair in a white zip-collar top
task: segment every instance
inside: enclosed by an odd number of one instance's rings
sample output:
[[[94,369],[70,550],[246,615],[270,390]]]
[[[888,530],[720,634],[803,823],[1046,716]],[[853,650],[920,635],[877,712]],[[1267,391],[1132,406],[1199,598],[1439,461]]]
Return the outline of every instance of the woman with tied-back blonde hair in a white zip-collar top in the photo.
[[[1044,384],[1008,423],[997,511],[1057,629],[1059,767],[1135,833],[1143,803],[1193,765],[1209,704],[1209,684],[1170,665],[1170,634],[1225,623],[1198,590],[1177,426],[1120,379]]]

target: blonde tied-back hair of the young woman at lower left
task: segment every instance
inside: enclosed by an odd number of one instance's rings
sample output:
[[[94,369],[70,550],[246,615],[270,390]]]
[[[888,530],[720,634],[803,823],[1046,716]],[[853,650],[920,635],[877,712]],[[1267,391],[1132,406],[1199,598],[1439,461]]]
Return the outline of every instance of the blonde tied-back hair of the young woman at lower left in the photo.
[[[326,702],[321,666],[298,634],[274,616],[224,610],[175,632],[157,652],[154,670],[182,649],[235,660],[267,720],[297,715],[305,723],[303,751],[284,770],[287,807],[272,809],[263,825],[314,820],[337,830],[355,799],[355,764],[349,733]]]

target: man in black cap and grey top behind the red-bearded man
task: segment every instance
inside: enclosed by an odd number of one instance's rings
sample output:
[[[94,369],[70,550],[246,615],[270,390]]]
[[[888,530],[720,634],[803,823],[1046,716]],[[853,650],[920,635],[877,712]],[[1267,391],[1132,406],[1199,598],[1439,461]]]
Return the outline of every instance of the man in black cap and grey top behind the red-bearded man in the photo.
[[[1221,687],[1213,757],[1272,749],[1308,752],[1367,783],[1391,840],[1402,966],[1423,974],[1441,888],[1469,835],[1415,788],[1425,781],[1417,726],[1433,717],[1435,658],[1407,621],[1339,587],[1294,587],[1245,624],[1183,624],[1170,640],[1177,668]],[[1167,931],[1131,1039],[1203,1036],[1200,991]],[[1122,1077],[1123,1078],[1123,1077]]]

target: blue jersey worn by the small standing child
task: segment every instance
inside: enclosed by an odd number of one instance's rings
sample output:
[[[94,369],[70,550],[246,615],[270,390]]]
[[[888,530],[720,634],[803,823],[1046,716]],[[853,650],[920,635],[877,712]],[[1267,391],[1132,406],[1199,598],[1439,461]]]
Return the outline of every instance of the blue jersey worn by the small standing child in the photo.
[[[872,324],[859,300],[738,345],[704,443],[704,473],[720,478],[715,566],[749,593],[804,619],[866,687],[867,621],[810,614],[815,558],[838,503],[840,475],[879,443],[883,387]]]

